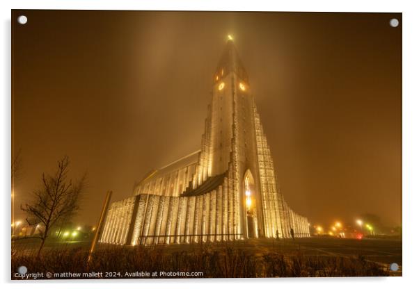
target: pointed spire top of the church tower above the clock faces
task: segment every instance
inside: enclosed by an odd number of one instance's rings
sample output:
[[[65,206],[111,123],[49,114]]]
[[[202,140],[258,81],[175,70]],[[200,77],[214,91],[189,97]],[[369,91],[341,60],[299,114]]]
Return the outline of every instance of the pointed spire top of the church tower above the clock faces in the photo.
[[[248,82],[246,69],[244,69],[242,60],[239,58],[232,35],[228,35],[226,47],[216,68],[214,79],[219,81],[230,73],[235,73],[239,79]]]

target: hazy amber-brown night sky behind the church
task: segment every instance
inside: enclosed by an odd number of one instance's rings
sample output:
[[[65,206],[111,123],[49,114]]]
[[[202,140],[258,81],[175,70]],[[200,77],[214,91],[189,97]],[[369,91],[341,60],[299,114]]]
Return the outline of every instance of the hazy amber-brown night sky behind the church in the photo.
[[[17,24],[26,15],[25,25]],[[280,190],[312,224],[402,220],[400,13],[13,10],[19,205],[70,157],[88,174],[75,222],[106,190],[130,197],[152,168],[200,149],[212,76],[232,34]]]

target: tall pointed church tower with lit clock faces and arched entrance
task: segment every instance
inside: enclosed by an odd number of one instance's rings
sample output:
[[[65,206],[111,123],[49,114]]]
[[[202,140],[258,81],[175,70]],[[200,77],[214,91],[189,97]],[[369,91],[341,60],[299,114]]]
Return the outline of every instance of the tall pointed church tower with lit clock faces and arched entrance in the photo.
[[[212,103],[193,188],[226,176],[233,211],[228,234],[244,238],[289,236],[289,210],[278,190],[274,164],[232,37],[213,76]]]

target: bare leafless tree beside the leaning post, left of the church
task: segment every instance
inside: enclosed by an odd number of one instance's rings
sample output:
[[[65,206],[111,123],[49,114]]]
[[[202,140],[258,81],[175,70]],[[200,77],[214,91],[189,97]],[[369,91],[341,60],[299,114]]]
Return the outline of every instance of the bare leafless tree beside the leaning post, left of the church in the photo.
[[[69,165],[68,156],[58,160],[54,176],[42,174],[42,186],[33,192],[33,201],[21,206],[28,214],[26,221],[29,225],[41,225],[38,228],[39,238],[42,240],[38,257],[48,238],[49,230],[58,222],[69,220],[79,209],[79,200],[86,187],[86,174],[73,183],[72,179],[68,179]]]

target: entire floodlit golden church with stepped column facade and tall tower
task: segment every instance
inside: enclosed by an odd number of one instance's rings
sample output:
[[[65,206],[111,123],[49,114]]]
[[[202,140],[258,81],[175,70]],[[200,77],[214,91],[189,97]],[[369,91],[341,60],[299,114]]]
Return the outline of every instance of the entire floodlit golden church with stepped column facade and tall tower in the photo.
[[[278,189],[271,151],[228,38],[200,151],[150,172],[111,204],[100,242],[138,245],[310,236]]]

